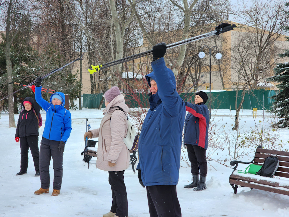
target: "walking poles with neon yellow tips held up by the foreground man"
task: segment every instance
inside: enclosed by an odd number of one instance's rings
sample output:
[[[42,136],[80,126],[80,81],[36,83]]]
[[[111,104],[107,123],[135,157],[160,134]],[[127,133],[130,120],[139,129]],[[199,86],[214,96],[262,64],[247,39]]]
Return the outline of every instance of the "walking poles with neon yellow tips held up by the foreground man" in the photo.
[[[169,45],[166,46],[166,49],[171,49],[171,48],[174,48],[174,47],[178,47],[178,46],[181,46],[181,45],[184,45],[184,44],[187,44],[187,43],[191,43],[193,41],[197,41],[197,40],[200,40],[200,39],[204,39],[204,38],[207,38],[207,37],[210,37],[210,36],[219,35],[219,34],[231,31],[235,27],[236,27],[235,24],[222,23],[219,26],[217,26],[215,28],[215,30],[212,31],[212,32],[204,33],[204,34],[201,34],[199,36],[195,36],[195,37],[192,37],[192,38],[188,38],[188,39],[185,39],[185,40],[182,40],[182,41],[179,41],[179,42],[175,42],[175,43],[169,44]],[[131,55],[131,56],[119,59],[119,60],[115,60],[115,61],[112,61],[112,62],[109,62],[109,63],[106,63],[106,64],[101,64],[101,65],[97,65],[97,66],[91,65],[92,70],[89,69],[88,71],[89,71],[90,74],[93,74],[94,72],[99,71],[101,69],[105,69],[105,68],[108,68],[108,67],[111,67],[111,66],[114,66],[114,65],[117,65],[117,64],[124,63],[124,62],[132,61],[134,59],[137,59],[137,58],[140,58],[140,57],[144,57],[144,56],[150,55],[152,53],[153,53],[153,50],[148,50],[148,51],[141,52],[141,53],[138,53],[138,54],[134,54],[134,55]]]

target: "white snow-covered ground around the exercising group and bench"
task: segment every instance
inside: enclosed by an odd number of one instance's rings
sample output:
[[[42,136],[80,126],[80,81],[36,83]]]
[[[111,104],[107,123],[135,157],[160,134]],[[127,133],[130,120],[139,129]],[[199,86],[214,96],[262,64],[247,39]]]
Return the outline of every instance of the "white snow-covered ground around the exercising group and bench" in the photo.
[[[234,124],[232,115],[234,110],[221,109],[213,111],[214,121],[230,126]],[[45,112],[42,113],[43,124]],[[245,127],[255,123],[250,110],[241,111],[241,122]],[[29,152],[29,166],[27,174],[16,176],[20,171],[20,146],[15,142],[15,128],[9,128],[8,115],[0,118],[0,216],[102,216],[110,211],[111,190],[108,183],[108,173],[95,167],[96,158],[92,158],[89,169],[82,161],[80,153],[84,149],[83,134],[85,132],[85,118],[89,119],[92,129],[98,128],[102,112],[96,109],[72,111],[72,132],[65,146],[63,162],[63,181],[61,194],[52,197],[53,162],[51,160],[50,193],[35,195],[40,188],[40,178],[34,177],[33,159]],[[263,111],[258,111],[256,122],[263,121]],[[267,122],[270,117],[265,113]],[[15,115],[15,121],[18,115]],[[16,122],[17,123],[17,122]],[[265,124],[265,128],[270,123]],[[39,129],[42,135],[44,126]],[[229,128],[228,128],[229,129]],[[289,131],[280,130],[282,140],[289,140]],[[41,136],[39,136],[40,144]],[[288,143],[287,143],[288,144]],[[283,148],[288,148],[289,145]],[[225,155],[220,151],[219,155]],[[223,156],[228,157],[228,156]],[[253,157],[253,156],[251,156]],[[249,160],[250,158],[243,159]],[[238,167],[239,168],[239,167]],[[244,169],[241,167],[240,169]],[[180,168],[177,193],[184,217],[207,216],[289,216],[289,197],[250,188],[238,188],[234,194],[228,178],[232,168],[216,162],[211,162],[207,175],[207,190],[194,192],[185,189],[185,184],[191,183],[190,167],[182,162]],[[130,167],[125,171],[125,183],[128,193],[130,217],[147,217],[148,202],[145,188],[138,182],[137,173]],[[289,182],[289,181],[288,181]]]

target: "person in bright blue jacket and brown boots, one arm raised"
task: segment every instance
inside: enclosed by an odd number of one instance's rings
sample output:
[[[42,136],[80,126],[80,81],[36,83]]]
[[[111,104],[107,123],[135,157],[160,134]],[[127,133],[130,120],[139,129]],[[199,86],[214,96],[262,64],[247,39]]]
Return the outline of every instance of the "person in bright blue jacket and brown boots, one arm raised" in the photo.
[[[35,99],[45,110],[46,121],[39,151],[39,171],[41,188],[35,194],[49,192],[49,164],[53,159],[53,192],[52,196],[60,193],[62,183],[62,162],[64,146],[71,132],[71,114],[64,108],[64,93],[56,92],[50,97],[50,103],[41,97],[42,78],[36,78]]]

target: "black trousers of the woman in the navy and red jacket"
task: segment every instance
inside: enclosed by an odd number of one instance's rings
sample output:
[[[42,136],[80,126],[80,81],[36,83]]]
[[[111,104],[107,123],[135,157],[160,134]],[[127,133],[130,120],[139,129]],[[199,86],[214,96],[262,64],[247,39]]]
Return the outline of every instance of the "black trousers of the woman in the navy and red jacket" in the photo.
[[[207,176],[208,166],[206,160],[206,149],[191,144],[186,144],[186,146],[188,157],[191,162],[192,175],[199,175],[200,168],[200,176]]]

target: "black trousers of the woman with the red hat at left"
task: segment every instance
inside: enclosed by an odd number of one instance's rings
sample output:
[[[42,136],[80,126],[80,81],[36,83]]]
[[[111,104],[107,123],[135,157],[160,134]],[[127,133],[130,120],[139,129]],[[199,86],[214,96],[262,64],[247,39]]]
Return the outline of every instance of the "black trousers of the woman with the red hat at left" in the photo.
[[[28,151],[30,148],[35,171],[39,172],[39,150],[38,150],[38,136],[20,137],[21,161],[20,171],[26,172],[28,168]]]

